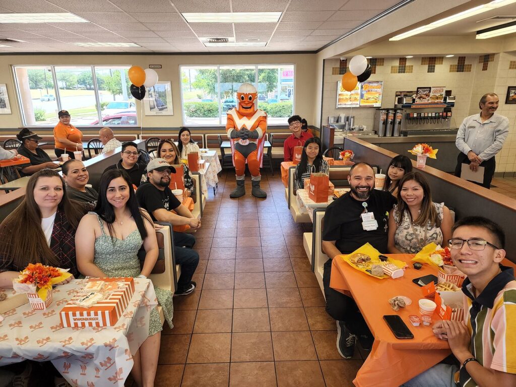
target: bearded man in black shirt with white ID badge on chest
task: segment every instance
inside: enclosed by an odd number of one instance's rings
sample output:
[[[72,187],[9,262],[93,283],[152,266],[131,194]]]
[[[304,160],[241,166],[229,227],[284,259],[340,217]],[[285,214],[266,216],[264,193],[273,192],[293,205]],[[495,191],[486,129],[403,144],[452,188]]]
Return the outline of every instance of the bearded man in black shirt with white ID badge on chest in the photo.
[[[357,336],[366,350],[374,338],[354,300],[330,288],[332,259],[366,243],[386,253],[389,211],[396,204],[389,192],[374,189],[375,172],[367,163],[353,165],[348,182],[351,190],[327,207],[322,232],[322,250],[330,257],[322,277],[326,312],[337,321],[337,350],[345,359],[353,357]]]

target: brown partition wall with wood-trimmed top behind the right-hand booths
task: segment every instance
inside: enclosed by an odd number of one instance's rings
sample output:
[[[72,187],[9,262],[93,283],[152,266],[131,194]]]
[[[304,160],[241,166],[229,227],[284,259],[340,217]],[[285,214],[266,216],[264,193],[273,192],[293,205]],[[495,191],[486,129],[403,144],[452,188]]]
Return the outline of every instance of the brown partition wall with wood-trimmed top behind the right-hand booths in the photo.
[[[344,146],[354,152],[354,162],[367,162],[378,165],[383,171],[396,153],[380,148],[374,144],[356,137],[346,137]],[[409,154],[402,152],[402,154]],[[441,151],[437,154],[439,158]],[[428,160],[427,160],[428,161]],[[457,178],[454,175],[426,166],[415,171],[425,175],[432,190],[432,200],[444,202],[455,211],[456,220],[466,216],[483,216],[501,225],[507,237],[505,250],[510,261],[516,263],[516,238],[513,235],[513,224],[516,219],[516,199],[509,198],[502,193],[491,191],[469,181]]]

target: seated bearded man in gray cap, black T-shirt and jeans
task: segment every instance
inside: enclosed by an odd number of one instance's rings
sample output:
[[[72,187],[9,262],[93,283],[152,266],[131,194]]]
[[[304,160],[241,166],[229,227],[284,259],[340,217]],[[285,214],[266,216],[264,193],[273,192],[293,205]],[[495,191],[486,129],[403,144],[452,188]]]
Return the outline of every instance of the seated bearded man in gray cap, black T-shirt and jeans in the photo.
[[[148,182],[136,190],[136,198],[141,207],[151,214],[153,221],[170,222],[172,225],[188,224],[192,229],[201,227],[201,221],[188,211],[188,208],[172,194],[168,187],[170,173],[175,173],[163,158],[154,158],[147,165]],[[175,214],[171,211],[175,211]],[[199,253],[192,250],[195,237],[191,234],[174,232],[175,263],[181,265],[181,276],[178,280],[178,290],[175,296],[184,296],[195,290],[196,283],[192,281],[193,273],[199,264]]]

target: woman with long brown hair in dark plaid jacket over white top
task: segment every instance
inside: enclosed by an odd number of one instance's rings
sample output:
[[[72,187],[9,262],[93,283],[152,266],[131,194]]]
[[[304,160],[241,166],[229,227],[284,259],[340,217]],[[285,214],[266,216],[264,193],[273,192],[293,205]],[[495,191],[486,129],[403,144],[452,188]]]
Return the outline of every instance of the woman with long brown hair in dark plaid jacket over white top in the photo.
[[[75,231],[85,213],[82,204],[68,198],[56,171],[30,176],[25,198],[0,223],[0,287],[11,288],[29,263],[70,269],[76,277]]]

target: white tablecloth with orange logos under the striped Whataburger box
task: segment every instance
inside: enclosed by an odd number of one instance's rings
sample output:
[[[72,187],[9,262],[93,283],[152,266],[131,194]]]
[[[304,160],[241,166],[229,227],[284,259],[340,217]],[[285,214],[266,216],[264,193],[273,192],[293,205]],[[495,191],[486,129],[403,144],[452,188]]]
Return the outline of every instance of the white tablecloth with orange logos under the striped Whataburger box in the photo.
[[[72,386],[124,386],[134,364],[132,353],[149,335],[150,311],[157,305],[154,287],[150,280],[135,278],[133,298],[114,327],[63,328],[59,311],[84,281],[56,286],[46,311],[33,311],[26,303],[3,314],[0,366],[25,359],[52,361]]]

